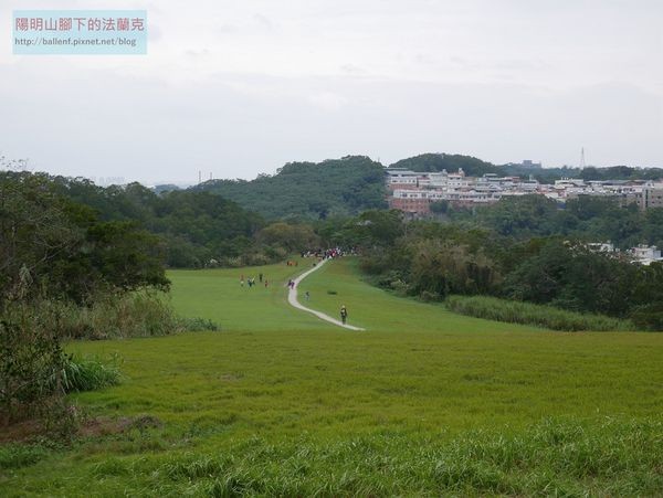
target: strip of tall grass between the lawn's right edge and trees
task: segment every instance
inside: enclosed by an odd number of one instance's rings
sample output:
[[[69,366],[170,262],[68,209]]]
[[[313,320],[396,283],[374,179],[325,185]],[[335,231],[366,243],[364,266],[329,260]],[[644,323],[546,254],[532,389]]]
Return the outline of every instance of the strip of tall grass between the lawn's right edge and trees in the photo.
[[[451,311],[486,320],[533,325],[552,330],[634,330],[630,320],[603,315],[567,311],[551,306],[535,305],[487,296],[449,296],[446,308]]]

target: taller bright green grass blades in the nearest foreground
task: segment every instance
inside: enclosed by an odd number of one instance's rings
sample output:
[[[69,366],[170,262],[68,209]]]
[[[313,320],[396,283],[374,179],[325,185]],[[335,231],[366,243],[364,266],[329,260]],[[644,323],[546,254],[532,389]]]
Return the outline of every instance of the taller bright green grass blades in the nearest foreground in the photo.
[[[514,435],[392,433],[171,457],[152,474],[209,496],[636,496],[663,486],[663,425],[545,420]]]

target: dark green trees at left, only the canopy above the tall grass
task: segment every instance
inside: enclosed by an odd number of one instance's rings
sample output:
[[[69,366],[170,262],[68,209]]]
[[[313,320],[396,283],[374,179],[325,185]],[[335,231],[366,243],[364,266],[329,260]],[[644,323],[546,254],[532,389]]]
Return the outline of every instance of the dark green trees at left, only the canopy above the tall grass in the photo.
[[[102,222],[44,174],[0,173],[0,306],[167,287],[164,251],[134,222]]]

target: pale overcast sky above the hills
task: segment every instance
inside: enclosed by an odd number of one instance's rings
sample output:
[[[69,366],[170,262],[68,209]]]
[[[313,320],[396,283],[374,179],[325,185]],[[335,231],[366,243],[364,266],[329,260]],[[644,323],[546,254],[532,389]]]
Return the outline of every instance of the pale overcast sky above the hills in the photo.
[[[14,9],[145,9],[148,55],[12,55]],[[661,0],[0,0],[0,156],[147,183],[422,152],[663,166]]]

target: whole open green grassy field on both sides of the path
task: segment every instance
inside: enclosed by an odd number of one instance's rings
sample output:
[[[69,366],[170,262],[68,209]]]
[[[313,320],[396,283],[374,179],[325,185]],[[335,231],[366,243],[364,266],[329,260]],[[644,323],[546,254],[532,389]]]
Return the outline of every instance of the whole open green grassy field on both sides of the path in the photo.
[[[346,259],[299,293],[348,331],[287,306],[311,263],[171,272],[220,332],[69,345],[125,380],[74,396],[103,423],[73,447],[0,448],[0,495],[663,495],[663,335],[463,317]]]

